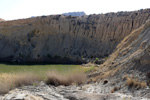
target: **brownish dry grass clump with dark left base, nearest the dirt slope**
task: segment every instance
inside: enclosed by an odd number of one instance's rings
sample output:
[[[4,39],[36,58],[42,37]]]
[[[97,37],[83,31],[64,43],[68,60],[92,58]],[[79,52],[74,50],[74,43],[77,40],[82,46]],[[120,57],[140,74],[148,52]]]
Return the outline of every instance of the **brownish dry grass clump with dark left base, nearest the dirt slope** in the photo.
[[[47,84],[51,84],[54,86],[58,85],[71,85],[77,84],[80,85],[86,81],[86,75],[82,72],[79,73],[69,73],[69,74],[59,74],[58,72],[48,72],[47,73]]]

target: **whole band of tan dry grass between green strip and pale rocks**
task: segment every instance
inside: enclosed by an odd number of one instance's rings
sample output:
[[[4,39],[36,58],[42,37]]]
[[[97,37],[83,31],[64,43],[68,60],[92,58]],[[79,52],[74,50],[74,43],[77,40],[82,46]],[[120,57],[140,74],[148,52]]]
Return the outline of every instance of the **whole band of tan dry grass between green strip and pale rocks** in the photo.
[[[80,85],[86,80],[86,75],[84,72],[62,74],[58,71],[51,71],[47,74],[45,73],[44,77],[41,77],[38,74],[33,72],[24,72],[24,73],[3,73],[0,74],[0,94],[5,94],[11,89],[14,89],[23,85],[32,85],[40,81],[46,81],[47,84],[51,85],[71,85],[77,84]]]

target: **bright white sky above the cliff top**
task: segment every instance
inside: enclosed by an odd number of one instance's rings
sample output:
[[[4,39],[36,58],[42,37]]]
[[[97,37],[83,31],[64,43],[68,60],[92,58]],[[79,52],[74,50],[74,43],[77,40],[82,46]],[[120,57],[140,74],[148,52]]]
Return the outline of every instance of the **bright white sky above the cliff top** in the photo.
[[[150,8],[150,0],[0,0],[0,18],[14,20],[84,11],[100,14]]]

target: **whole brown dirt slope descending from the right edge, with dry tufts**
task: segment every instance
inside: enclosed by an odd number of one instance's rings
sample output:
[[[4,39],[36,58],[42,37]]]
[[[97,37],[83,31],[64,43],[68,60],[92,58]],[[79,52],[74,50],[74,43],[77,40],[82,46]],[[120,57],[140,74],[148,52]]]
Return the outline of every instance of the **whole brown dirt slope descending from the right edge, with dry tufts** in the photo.
[[[126,36],[90,76],[107,80],[107,87],[114,87],[110,91],[150,98],[150,21]]]

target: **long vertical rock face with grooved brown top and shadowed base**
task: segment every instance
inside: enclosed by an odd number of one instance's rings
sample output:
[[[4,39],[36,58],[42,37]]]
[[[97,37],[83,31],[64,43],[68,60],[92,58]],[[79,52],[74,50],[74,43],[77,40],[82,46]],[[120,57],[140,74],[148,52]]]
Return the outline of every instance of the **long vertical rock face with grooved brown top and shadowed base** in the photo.
[[[82,17],[64,15],[0,23],[0,60],[81,63],[104,58],[150,18],[150,9]]]

